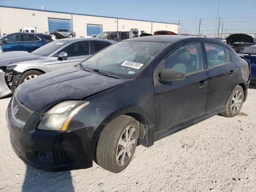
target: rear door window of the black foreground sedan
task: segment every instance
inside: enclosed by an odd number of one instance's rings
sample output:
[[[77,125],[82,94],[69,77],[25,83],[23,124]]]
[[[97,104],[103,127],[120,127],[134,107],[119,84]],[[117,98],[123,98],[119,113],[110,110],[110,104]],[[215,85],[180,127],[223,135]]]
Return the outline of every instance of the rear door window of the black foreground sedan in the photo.
[[[226,63],[224,47],[210,43],[205,43],[204,47],[207,55],[208,68]]]

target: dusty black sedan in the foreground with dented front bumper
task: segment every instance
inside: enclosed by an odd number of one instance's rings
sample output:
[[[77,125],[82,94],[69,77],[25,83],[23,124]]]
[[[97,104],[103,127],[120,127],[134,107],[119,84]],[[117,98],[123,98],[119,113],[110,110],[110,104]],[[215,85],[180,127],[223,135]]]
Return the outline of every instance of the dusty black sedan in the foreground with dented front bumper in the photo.
[[[236,116],[249,82],[249,62],[218,40],[124,40],[18,86],[7,110],[11,144],[41,170],[89,168],[95,157],[121,172],[140,144],[219,113]]]

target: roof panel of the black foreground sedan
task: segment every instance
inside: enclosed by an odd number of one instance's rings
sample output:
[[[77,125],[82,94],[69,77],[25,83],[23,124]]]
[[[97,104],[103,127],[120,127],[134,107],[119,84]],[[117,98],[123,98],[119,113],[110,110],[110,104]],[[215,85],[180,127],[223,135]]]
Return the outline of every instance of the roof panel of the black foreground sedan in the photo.
[[[196,37],[196,36],[184,36],[184,35],[153,35],[153,36],[144,36],[144,37],[136,37],[130,38],[123,41],[148,41],[148,42],[166,42],[166,43],[174,43],[180,40],[206,40],[208,42],[223,44],[219,40],[215,40],[212,38],[205,38],[205,37]]]

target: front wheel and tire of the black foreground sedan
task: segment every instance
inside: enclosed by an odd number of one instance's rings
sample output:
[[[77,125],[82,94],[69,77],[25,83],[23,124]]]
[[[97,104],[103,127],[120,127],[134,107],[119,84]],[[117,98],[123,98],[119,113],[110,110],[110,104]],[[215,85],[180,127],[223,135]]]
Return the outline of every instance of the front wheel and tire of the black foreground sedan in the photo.
[[[115,118],[102,130],[96,149],[98,164],[114,173],[124,170],[138,142],[138,122],[126,115]]]

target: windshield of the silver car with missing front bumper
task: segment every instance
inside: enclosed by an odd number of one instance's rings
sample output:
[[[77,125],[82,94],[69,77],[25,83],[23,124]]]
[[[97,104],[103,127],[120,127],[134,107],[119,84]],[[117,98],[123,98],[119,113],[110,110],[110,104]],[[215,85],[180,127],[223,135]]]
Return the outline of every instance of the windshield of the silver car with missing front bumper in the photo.
[[[56,40],[34,50],[31,53],[40,56],[49,56],[52,52],[66,44],[68,44],[68,41],[65,39]]]

